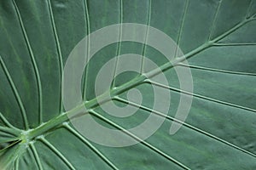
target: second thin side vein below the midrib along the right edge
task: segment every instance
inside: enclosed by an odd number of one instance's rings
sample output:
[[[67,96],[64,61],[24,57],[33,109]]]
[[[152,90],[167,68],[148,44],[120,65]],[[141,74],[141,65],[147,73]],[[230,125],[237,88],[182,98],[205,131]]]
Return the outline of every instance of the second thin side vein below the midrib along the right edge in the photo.
[[[222,73],[227,73],[227,74],[244,75],[244,76],[256,76],[256,73],[251,73],[251,72],[226,71],[226,70],[222,70],[222,69],[213,69],[213,68],[208,68],[208,67],[198,66],[198,65],[186,65],[183,63],[180,63],[178,65],[193,68],[193,69],[198,69],[198,70],[204,70],[204,71],[214,71],[214,72],[222,72]]]

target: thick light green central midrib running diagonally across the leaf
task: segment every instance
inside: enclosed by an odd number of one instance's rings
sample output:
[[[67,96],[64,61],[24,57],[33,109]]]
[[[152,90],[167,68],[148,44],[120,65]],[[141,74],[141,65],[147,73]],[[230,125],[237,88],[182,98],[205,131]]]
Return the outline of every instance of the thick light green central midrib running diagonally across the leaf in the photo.
[[[176,66],[177,64],[183,62],[185,59],[189,59],[189,57],[200,53],[202,50],[212,47],[212,45],[214,43],[216,43],[219,40],[223,39],[224,37],[230,35],[230,33],[232,33],[233,31],[236,31],[238,28],[240,28],[241,26],[245,25],[247,22],[254,20],[254,19],[255,18],[253,18],[253,16],[252,16],[246,20],[242,20],[239,24],[232,27],[230,30],[225,31],[223,34],[214,38],[211,41],[203,43],[199,48],[195,48],[188,54],[184,54],[181,57],[174,58],[170,62],[167,62],[164,65],[161,65],[159,68],[156,68],[153,71],[148,71],[147,73],[137,76],[137,77],[131,79],[131,81],[125,82],[125,84],[123,84],[117,88],[111,88],[111,89],[109,89],[108,92],[106,92],[100,96],[97,96],[95,99],[91,99],[90,101],[85,101],[83,104],[78,105],[77,107],[73,108],[72,110],[64,112],[60,116],[56,116],[55,118],[49,120],[49,122],[44,122],[40,126],[29,130],[29,132],[27,133],[27,138],[35,139],[38,136],[44,135],[44,133],[48,132],[50,129],[60,126],[61,123],[63,123],[63,122],[67,122],[69,120],[69,117],[76,116],[78,114],[77,111],[79,111],[81,108],[85,107],[87,111],[90,111],[90,110],[94,109],[96,106],[110,100],[112,96],[122,94],[123,92],[125,92],[133,87],[136,87],[139,84],[142,84],[143,82],[145,82],[146,79],[158,75],[161,71],[166,71],[166,70]],[[111,96],[110,98],[108,97],[109,96],[108,93]],[[88,112],[84,112],[84,114],[86,114],[86,113],[88,113]],[[81,113],[79,113],[79,114],[81,114]]]

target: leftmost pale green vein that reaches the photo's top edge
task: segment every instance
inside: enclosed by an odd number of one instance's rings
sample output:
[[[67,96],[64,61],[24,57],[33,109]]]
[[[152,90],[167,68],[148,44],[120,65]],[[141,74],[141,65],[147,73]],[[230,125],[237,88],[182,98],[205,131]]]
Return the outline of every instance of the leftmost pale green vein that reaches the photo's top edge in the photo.
[[[17,4],[15,3],[15,0],[13,0],[13,4],[15,6],[15,11],[16,11],[16,14],[17,14],[19,22],[20,22],[20,28],[21,28],[23,36],[25,38],[26,46],[28,48],[28,51],[29,51],[29,54],[30,54],[30,57],[31,57],[31,60],[32,60],[33,69],[34,69],[35,74],[36,74],[36,79],[37,79],[37,84],[38,84],[38,95],[39,95],[38,96],[39,97],[39,99],[38,99],[38,110],[39,110],[38,111],[38,114],[39,114],[38,122],[40,123],[43,120],[43,114],[42,114],[42,106],[43,106],[42,99],[43,99],[43,95],[42,95],[42,85],[41,85],[40,75],[39,75],[39,71],[38,71],[38,65],[36,63],[34,54],[32,52],[32,48],[31,48],[29,39],[28,39],[28,37],[26,35],[26,29],[25,29],[25,26],[24,26],[23,21],[21,19],[20,11],[19,11],[19,8],[18,8]]]

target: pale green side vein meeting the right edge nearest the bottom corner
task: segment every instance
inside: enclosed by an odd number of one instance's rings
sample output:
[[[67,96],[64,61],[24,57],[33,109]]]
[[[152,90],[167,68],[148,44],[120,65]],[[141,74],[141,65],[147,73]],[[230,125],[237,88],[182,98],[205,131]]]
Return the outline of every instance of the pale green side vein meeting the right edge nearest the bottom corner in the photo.
[[[182,122],[182,121],[180,121],[180,120],[178,120],[178,119],[176,119],[176,118],[174,118],[174,117],[172,117],[172,116],[166,116],[165,114],[161,113],[160,111],[154,111],[154,110],[152,110],[152,109],[150,109],[150,108],[148,108],[148,107],[146,107],[146,106],[144,106],[144,105],[137,105],[137,104],[134,103],[134,102],[128,101],[128,100],[126,100],[126,99],[122,99],[122,98],[120,98],[120,97],[115,97],[114,99],[116,99],[116,100],[118,100],[118,101],[120,101],[120,102],[123,102],[123,103],[125,103],[126,105],[133,105],[133,106],[135,106],[135,107],[137,107],[137,108],[140,108],[140,109],[142,109],[142,110],[144,110],[144,111],[152,112],[152,113],[154,113],[154,114],[156,114],[156,115],[159,115],[159,116],[162,116],[162,117],[166,117],[166,118],[167,118],[168,120],[170,120],[170,121],[178,122],[178,123],[180,123],[180,124],[183,124],[183,126],[189,127],[190,129],[195,130],[195,131],[198,132],[198,133],[202,133],[202,134],[206,135],[206,136],[209,137],[209,138],[216,139],[216,140],[218,140],[219,142],[221,142],[221,143],[223,143],[223,144],[227,144],[227,145],[229,145],[230,147],[235,148],[236,150],[240,150],[240,151],[242,151],[242,152],[244,152],[244,153],[246,153],[246,154],[248,154],[248,155],[250,155],[250,156],[256,157],[256,155],[253,154],[252,152],[250,152],[250,151],[248,151],[248,150],[244,150],[244,149],[242,149],[241,147],[237,146],[236,144],[231,144],[231,143],[228,142],[227,140],[221,139],[221,138],[219,138],[219,137],[213,135],[212,133],[207,133],[206,131],[202,130],[201,128],[198,128],[198,127],[195,127],[195,126],[193,126],[193,125],[190,125],[190,124],[187,123],[187,122]]]

